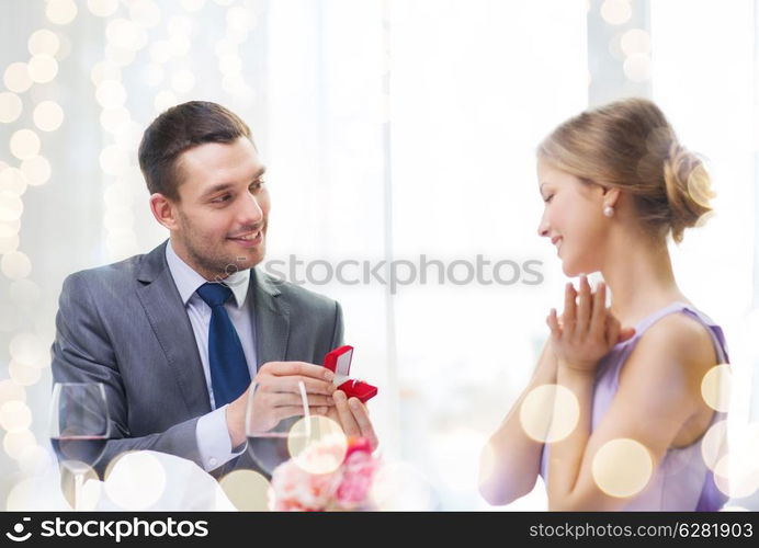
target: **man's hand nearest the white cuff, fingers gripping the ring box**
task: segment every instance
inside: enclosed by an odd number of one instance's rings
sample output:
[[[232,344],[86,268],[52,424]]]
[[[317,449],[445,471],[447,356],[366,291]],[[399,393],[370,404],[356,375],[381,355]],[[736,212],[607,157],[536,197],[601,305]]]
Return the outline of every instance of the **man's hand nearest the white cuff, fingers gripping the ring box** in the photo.
[[[335,374],[329,369],[305,362],[269,362],[263,364],[253,379],[257,384],[253,400],[252,427],[265,432],[280,421],[303,414],[299,384],[306,388],[308,407],[315,414],[327,414],[335,407],[332,393]],[[246,410],[250,387],[227,408],[227,429],[231,446],[246,438]]]

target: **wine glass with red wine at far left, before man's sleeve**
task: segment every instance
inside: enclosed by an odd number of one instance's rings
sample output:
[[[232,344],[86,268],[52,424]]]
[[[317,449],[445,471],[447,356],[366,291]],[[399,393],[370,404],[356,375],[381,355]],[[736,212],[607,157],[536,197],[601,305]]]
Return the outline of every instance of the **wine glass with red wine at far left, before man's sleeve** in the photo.
[[[73,509],[80,510],[84,476],[100,459],[110,435],[101,383],[56,383],[50,406],[50,443],[73,475]]]

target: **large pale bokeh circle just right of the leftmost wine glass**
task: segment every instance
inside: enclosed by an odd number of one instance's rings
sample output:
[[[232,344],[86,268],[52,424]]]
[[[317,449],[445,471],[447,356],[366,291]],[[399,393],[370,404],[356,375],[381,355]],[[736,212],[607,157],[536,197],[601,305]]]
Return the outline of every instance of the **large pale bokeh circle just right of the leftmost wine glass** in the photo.
[[[127,452],[105,471],[105,493],[125,510],[149,509],[163,494],[167,476],[163,465],[146,452]]]

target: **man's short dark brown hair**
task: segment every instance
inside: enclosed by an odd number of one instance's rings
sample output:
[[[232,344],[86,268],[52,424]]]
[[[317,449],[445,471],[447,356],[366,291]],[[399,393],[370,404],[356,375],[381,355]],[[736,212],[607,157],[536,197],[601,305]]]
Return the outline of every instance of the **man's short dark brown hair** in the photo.
[[[179,202],[179,156],[205,142],[234,142],[240,137],[251,139],[250,128],[219,104],[190,101],[172,106],[152,121],[139,144],[139,168],[148,191]]]

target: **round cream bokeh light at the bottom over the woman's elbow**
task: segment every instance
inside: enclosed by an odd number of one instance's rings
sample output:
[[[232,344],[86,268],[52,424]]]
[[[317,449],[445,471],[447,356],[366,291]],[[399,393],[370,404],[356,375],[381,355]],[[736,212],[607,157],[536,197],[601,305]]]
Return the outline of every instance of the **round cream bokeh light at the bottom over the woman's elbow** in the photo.
[[[593,480],[610,496],[633,496],[646,487],[654,471],[648,449],[630,438],[612,439],[596,453],[592,464]]]

